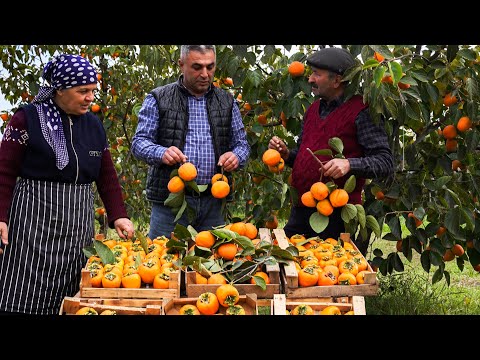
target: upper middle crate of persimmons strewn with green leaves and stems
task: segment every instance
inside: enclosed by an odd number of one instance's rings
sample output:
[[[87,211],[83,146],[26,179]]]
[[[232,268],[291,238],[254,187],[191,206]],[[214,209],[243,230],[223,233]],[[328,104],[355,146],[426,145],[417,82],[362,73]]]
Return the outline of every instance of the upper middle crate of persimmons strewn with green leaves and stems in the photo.
[[[215,292],[222,284],[234,284],[240,295],[256,294],[271,299],[282,292],[280,265],[288,252],[272,243],[270,230],[258,231],[251,223],[237,222],[224,228],[201,231],[183,258],[188,297]]]

